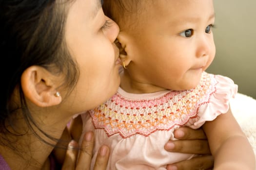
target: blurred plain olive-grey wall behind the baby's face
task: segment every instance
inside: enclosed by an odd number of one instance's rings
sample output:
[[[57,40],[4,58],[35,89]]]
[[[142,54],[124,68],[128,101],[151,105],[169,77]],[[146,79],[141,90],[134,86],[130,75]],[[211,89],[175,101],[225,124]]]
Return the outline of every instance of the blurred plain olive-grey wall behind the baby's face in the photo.
[[[228,76],[256,99],[256,0],[214,0],[216,57],[206,70]]]

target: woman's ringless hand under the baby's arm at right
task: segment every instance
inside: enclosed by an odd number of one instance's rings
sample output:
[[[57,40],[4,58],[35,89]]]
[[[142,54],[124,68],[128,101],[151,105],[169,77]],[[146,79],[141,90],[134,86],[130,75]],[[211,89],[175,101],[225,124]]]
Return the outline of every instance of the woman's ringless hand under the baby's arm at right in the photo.
[[[209,170],[213,168],[214,158],[203,130],[181,127],[174,132],[175,138],[169,140],[165,150],[178,153],[193,153],[200,156],[167,166],[167,170]]]

